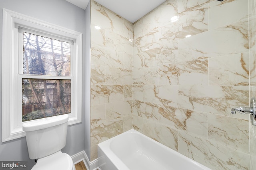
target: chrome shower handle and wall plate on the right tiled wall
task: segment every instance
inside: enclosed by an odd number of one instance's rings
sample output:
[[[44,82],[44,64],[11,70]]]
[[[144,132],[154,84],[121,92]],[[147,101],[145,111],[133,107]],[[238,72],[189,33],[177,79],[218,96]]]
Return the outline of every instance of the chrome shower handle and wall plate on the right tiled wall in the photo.
[[[250,107],[239,106],[231,109],[232,114],[236,111],[241,114],[250,114],[252,125],[256,126],[256,98],[251,99]]]

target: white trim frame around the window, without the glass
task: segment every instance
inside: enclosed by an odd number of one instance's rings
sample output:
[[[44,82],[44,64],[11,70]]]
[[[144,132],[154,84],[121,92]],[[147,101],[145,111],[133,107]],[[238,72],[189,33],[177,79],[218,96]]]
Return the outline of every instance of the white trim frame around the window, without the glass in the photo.
[[[68,125],[82,121],[82,33],[46,21],[3,9],[2,32],[2,142],[24,137],[22,131],[22,81],[19,75],[18,27],[43,30],[70,39],[73,44],[71,63],[71,113]],[[32,78],[34,75],[32,75]],[[56,77],[58,79],[58,77]]]

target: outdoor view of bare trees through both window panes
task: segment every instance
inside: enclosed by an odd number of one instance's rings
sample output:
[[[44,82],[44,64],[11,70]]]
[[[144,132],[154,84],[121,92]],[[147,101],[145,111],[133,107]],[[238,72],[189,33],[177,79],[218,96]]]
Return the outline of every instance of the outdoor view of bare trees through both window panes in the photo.
[[[23,33],[23,74],[70,76],[70,43]],[[22,79],[22,121],[71,112],[71,80]]]

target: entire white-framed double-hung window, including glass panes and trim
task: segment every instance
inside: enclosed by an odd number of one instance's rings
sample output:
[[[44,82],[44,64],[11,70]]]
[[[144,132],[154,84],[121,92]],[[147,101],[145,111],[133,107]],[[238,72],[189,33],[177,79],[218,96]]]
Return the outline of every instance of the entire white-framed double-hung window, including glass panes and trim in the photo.
[[[81,122],[82,33],[3,9],[2,41],[2,142],[24,121]]]

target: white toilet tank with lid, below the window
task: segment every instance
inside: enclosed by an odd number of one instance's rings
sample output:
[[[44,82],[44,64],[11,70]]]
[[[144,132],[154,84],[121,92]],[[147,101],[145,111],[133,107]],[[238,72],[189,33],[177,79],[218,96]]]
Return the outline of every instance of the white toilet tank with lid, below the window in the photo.
[[[22,123],[30,159],[58,152],[66,145],[68,115],[58,115]]]

